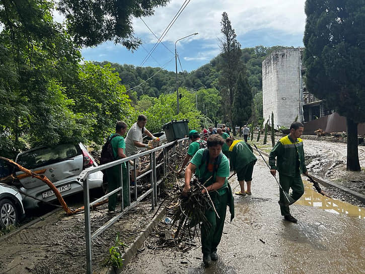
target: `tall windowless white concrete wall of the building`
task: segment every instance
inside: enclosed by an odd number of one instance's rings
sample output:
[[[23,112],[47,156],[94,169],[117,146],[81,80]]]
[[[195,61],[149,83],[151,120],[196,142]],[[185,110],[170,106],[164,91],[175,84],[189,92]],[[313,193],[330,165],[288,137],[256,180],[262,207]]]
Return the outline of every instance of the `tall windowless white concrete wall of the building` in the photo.
[[[262,62],[262,100],[265,120],[274,113],[274,126],[289,127],[300,107],[300,51],[273,52]]]

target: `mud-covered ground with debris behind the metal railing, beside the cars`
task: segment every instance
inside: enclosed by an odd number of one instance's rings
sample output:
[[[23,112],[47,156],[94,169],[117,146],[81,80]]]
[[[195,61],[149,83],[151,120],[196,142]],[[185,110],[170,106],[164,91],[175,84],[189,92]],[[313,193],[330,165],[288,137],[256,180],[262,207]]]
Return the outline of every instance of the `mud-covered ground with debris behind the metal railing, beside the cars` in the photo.
[[[115,215],[108,214],[107,204],[93,211],[92,233]],[[97,237],[92,248],[94,272],[105,270],[104,261],[118,233],[123,243],[130,245],[153,215],[151,202],[146,199]],[[58,211],[15,235],[0,238],[0,242],[0,273],[86,273],[83,213],[66,216]]]

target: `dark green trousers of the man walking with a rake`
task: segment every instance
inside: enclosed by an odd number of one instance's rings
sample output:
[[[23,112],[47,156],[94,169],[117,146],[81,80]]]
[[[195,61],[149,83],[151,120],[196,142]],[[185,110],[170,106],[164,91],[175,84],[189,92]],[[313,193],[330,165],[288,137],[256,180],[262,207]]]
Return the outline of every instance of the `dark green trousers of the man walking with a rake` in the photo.
[[[290,194],[290,196],[294,200],[298,200],[304,194],[304,186],[303,186],[301,174],[298,173],[295,176],[285,176],[285,175],[280,175],[280,172],[279,172],[279,180],[280,180],[282,189],[286,193],[288,193],[289,188],[291,188],[291,190],[293,192]],[[285,205],[285,202],[286,202],[286,198],[285,198],[284,194],[282,193],[282,190],[280,189],[279,204],[280,204],[280,212],[281,212],[282,216],[290,214],[289,206]]]

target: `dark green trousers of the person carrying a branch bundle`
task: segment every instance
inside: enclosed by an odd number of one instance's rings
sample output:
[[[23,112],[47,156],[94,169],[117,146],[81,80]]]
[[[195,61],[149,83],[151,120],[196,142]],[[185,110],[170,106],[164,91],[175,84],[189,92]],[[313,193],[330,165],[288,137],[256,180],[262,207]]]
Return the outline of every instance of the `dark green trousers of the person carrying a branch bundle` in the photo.
[[[210,223],[209,225],[202,224],[201,226],[201,251],[203,254],[209,254],[216,251],[218,244],[221,241],[223,227],[225,226],[228,192],[219,195],[217,192],[209,192],[209,195],[214,203],[214,207],[220,218],[218,218],[213,209],[205,212],[205,217]]]

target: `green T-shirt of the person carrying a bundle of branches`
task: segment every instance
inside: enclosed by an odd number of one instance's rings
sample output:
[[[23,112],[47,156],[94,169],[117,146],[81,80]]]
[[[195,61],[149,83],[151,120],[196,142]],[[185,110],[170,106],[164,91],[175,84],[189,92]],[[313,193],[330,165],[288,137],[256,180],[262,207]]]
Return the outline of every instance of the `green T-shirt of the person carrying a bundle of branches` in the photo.
[[[192,163],[196,169],[195,169],[195,174],[198,178],[203,178],[203,182],[205,182],[206,179],[208,179],[210,177],[210,175],[212,175],[212,172],[209,172],[208,170],[205,170],[205,166],[206,166],[206,159],[202,159],[203,158],[203,153],[204,153],[205,149],[199,149],[193,159],[191,159],[190,163]],[[214,163],[212,163],[214,166]],[[225,183],[223,184],[223,186],[217,190],[218,194],[223,195],[227,192],[227,177],[230,176],[230,164],[228,162],[228,159],[225,155],[222,155],[222,161],[221,164],[218,166],[218,169],[216,171],[215,174],[213,174],[213,178],[210,179],[208,182],[206,182],[205,187],[211,185],[212,183],[216,182],[216,177],[226,177],[225,179]]]

